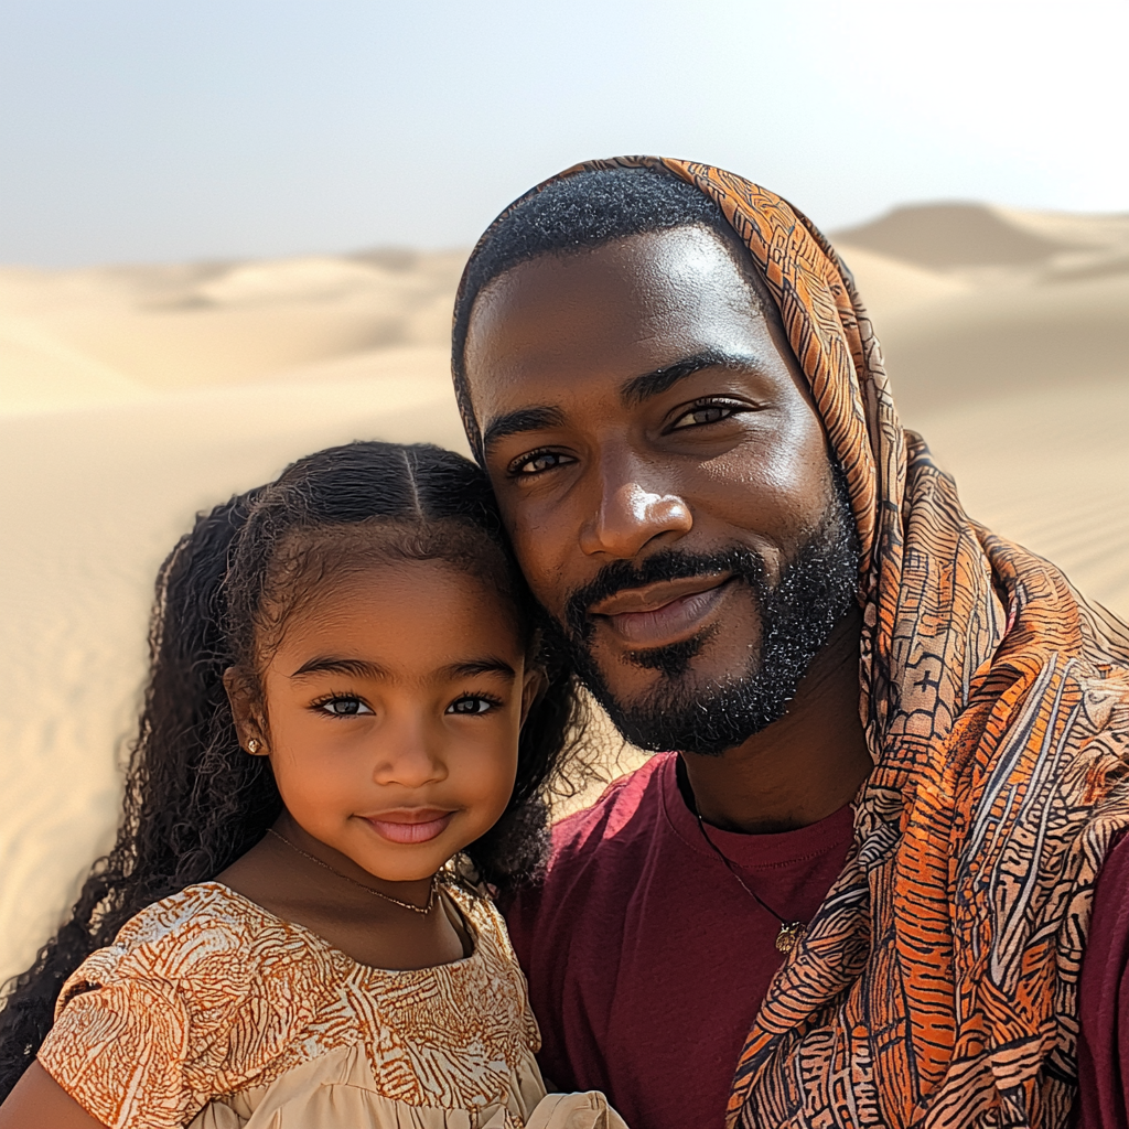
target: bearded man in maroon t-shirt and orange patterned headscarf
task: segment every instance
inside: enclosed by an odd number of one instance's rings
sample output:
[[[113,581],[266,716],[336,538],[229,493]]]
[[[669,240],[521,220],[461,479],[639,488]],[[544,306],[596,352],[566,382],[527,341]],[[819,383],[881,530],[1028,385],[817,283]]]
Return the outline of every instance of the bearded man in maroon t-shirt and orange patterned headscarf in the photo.
[[[1123,1123],[1129,632],[964,516],[822,236],[580,166],[479,243],[454,373],[554,642],[658,753],[510,910],[546,1074],[776,1129],[1064,1126],[1080,1069]]]

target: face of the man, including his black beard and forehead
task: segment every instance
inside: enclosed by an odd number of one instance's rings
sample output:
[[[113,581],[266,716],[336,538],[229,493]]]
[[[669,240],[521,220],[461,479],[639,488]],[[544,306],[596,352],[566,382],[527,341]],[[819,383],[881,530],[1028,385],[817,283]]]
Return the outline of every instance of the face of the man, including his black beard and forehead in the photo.
[[[471,318],[523,570],[649,747],[721,752],[779,717],[854,590],[823,429],[750,286],[719,238],[680,228],[523,263]]]

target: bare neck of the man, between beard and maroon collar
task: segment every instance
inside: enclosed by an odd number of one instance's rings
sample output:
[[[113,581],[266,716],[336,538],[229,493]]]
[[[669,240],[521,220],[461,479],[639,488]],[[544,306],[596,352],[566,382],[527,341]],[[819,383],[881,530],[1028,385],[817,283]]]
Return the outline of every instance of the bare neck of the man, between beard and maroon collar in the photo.
[[[682,753],[702,819],[726,831],[805,828],[849,803],[874,767],[859,719],[859,637],[851,611],[812,660],[788,712],[721,756]]]

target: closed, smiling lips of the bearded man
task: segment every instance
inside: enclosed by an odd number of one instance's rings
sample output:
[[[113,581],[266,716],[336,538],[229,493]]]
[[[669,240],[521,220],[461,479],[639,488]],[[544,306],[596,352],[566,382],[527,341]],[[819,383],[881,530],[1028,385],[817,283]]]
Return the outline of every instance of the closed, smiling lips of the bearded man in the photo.
[[[636,647],[658,647],[692,634],[724,598],[732,574],[660,580],[602,599],[588,614]]]

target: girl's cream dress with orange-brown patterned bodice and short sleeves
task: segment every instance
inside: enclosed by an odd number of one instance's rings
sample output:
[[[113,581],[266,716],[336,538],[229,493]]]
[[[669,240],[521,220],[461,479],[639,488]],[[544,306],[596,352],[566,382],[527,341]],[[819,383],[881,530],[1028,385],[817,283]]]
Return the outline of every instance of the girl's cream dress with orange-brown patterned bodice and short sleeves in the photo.
[[[391,972],[189,886],[67,981],[40,1062],[111,1129],[625,1129],[599,1094],[545,1096],[501,917],[447,894],[473,954]]]

